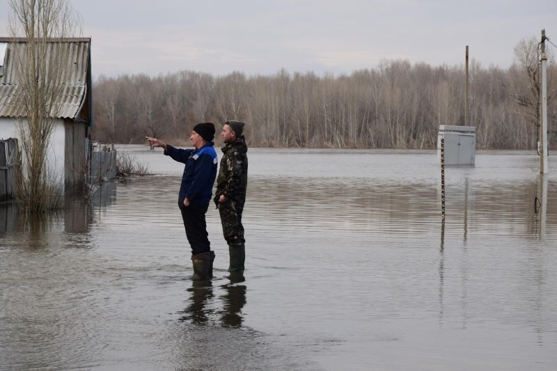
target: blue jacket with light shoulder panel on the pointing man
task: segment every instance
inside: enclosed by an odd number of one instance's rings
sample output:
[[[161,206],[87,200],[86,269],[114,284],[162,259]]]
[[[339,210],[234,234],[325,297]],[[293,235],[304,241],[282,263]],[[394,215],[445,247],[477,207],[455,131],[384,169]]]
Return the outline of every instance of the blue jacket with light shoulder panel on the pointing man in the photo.
[[[213,143],[207,143],[198,150],[182,150],[166,145],[164,155],[186,164],[178,205],[181,207],[185,198],[194,205],[209,205],[214,178],[217,177],[217,152],[214,150]]]

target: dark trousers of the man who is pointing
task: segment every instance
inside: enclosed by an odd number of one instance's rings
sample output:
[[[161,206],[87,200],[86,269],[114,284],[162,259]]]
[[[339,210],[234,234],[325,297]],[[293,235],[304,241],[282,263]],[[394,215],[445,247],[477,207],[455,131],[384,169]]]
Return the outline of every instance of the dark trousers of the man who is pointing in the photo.
[[[182,220],[186,228],[186,237],[191,247],[192,254],[206,253],[211,250],[209,234],[207,233],[207,223],[205,213],[209,205],[193,205],[188,207],[180,205]]]

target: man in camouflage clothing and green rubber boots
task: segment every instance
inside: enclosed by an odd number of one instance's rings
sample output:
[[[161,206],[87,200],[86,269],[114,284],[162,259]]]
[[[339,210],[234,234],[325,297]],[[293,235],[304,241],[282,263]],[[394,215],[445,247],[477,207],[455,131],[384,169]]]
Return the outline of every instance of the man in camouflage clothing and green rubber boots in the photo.
[[[242,211],[246,201],[248,182],[248,150],[242,135],[244,123],[227,121],[223,125],[221,138],[225,146],[217,177],[214,203],[219,209],[224,239],[230,252],[230,273],[244,272],[245,239],[242,226]]]

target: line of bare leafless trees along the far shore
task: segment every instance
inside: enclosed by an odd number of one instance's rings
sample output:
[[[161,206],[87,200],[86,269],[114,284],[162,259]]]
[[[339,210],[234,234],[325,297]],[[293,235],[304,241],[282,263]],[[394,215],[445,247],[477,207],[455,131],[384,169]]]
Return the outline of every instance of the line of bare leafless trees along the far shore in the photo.
[[[507,69],[471,62],[469,125],[476,127],[479,149],[536,148],[538,44],[534,38],[519,42]],[[552,148],[557,66],[551,53],[547,70]],[[93,87],[93,138],[143,143],[148,135],[186,144],[196,123],[242,120],[247,142],[256,147],[431,149],[439,125],[464,125],[464,79],[462,65],[399,60],[338,76],[285,70],[101,76]]]

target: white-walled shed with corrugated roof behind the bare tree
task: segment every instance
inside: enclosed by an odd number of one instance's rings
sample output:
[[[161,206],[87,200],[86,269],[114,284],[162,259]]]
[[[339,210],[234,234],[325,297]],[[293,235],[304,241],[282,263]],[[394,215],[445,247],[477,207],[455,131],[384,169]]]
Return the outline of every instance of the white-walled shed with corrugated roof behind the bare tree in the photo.
[[[27,52],[25,38],[0,38],[0,139],[19,139],[18,125],[25,120],[19,102],[22,88],[17,82],[19,58]],[[79,189],[90,168],[89,134],[93,127],[91,80],[91,38],[47,40],[47,58],[67,56],[63,63],[70,73],[55,114],[49,142],[47,164],[56,180],[63,180],[66,191]],[[60,58],[58,58],[60,59]]]

